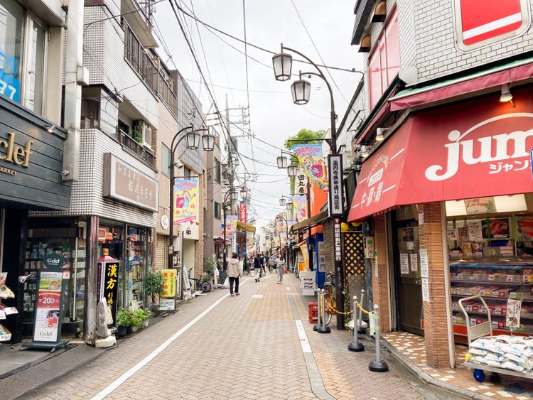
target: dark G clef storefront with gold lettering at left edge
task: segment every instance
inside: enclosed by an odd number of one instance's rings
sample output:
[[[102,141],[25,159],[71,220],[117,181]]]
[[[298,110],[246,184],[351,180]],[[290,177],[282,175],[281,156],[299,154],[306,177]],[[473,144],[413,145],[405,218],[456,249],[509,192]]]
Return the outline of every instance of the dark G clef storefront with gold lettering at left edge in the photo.
[[[52,249],[71,254],[76,229],[65,228],[53,247],[40,247],[28,231],[28,210],[68,209],[71,184],[61,180],[67,132],[4,97],[0,97],[0,126],[0,271],[7,273],[6,286],[14,293],[2,303],[18,310],[1,324],[14,342],[20,342],[24,321],[33,312],[36,280],[19,283],[18,276],[36,275],[41,269],[39,255]],[[68,291],[74,296],[75,287]]]

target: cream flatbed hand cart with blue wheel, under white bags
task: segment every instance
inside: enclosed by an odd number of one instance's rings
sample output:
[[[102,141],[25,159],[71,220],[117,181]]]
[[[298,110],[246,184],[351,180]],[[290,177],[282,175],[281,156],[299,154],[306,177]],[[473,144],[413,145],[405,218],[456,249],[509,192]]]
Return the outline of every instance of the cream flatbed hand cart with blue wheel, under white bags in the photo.
[[[481,303],[483,303],[485,310],[487,310],[488,322],[480,323],[472,327],[470,326],[470,318],[468,318],[468,313],[465,310],[465,307],[463,306],[463,301],[470,301],[470,300],[476,300],[476,301],[480,301]],[[485,303],[485,300],[483,300],[483,297],[471,296],[471,297],[461,298],[461,300],[459,300],[459,308],[461,308],[466,318],[466,333],[468,335],[468,345],[470,345],[470,343],[473,342],[473,340],[478,339],[478,337],[483,337],[487,335],[492,336],[492,320],[490,320],[490,310],[487,306],[487,303]],[[512,375],[513,377],[533,379],[533,371],[517,372],[517,371],[512,371],[512,369],[489,367],[488,365],[474,364],[473,362],[468,362],[468,361],[465,362],[464,366],[467,368],[470,368],[473,371],[473,377],[478,382],[483,382],[485,380],[484,371],[492,372],[492,374],[495,374],[495,375],[505,374],[505,375]]]

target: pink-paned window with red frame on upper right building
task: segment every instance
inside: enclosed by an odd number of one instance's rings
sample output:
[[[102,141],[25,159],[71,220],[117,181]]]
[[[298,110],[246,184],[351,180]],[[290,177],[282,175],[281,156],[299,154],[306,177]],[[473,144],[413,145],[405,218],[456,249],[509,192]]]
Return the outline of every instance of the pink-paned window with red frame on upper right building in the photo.
[[[394,10],[370,55],[370,109],[373,109],[399,71],[398,14]]]

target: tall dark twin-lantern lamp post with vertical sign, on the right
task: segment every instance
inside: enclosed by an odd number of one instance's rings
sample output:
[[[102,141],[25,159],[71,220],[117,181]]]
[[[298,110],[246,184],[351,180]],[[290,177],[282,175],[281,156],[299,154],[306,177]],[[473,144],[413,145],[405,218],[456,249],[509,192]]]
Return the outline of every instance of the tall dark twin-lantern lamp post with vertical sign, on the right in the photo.
[[[331,105],[331,111],[330,111],[330,123],[331,123],[331,139],[328,141],[330,144],[330,150],[331,154],[335,155],[337,153],[337,130],[335,126],[335,101],[333,99],[333,90],[331,90],[331,85],[328,82],[327,79],[325,79],[325,75],[323,74],[322,70],[316,63],[313,63],[313,61],[308,58],[306,55],[303,55],[297,50],[294,50],[292,48],[284,47],[283,43],[281,43],[281,53],[276,54],[272,57],[272,63],[274,65],[274,75],[276,76],[276,80],[289,80],[291,79],[291,70],[292,70],[292,56],[288,53],[284,53],[284,50],[291,51],[293,53],[296,53],[298,55],[301,55],[301,57],[305,58],[313,67],[316,68],[318,71],[318,74],[316,72],[304,72],[303,74],[300,71],[300,79],[293,82],[291,85],[291,93],[293,96],[293,101],[295,104],[307,104],[309,101],[309,95],[311,93],[311,83],[307,82],[306,80],[302,80],[302,75],[315,75],[318,77],[321,77],[321,79],[325,82],[325,85],[328,87],[328,91],[330,92],[330,105]],[[330,157],[330,156],[329,156]],[[342,158],[340,156],[336,156],[337,159],[340,159],[340,182],[338,179],[338,175],[335,175],[335,180],[337,181],[336,185],[340,184],[342,185]],[[338,161],[335,161],[338,163]],[[330,216],[334,217],[333,220],[333,237],[334,237],[334,259],[335,259],[335,291],[336,291],[336,303],[338,310],[340,313],[337,313],[337,329],[343,330],[344,329],[344,298],[343,298],[343,285],[344,285],[344,271],[342,266],[342,256],[341,249],[340,249],[340,220],[338,216],[342,215],[342,213],[339,213],[338,210],[335,210],[333,212],[333,201],[331,198],[331,193],[333,190],[333,175],[332,175],[332,168],[328,168],[328,180],[329,180],[329,192],[330,192],[330,201],[329,201],[329,211]],[[338,171],[335,171],[335,173],[338,174]],[[335,190],[336,193],[340,193],[340,203],[343,202],[343,189],[340,188],[340,190]],[[344,212],[344,210],[342,210]],[[337,216],[337,218],[335,218]]]

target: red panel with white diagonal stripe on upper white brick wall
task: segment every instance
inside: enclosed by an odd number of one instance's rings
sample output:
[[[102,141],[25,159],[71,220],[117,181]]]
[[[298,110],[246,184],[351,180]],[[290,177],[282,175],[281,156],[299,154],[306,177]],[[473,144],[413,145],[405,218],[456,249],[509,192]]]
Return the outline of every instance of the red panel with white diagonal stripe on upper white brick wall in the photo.
[[[470,50],[480,45],[519,36],[522,33],[521,28],[527,29],[529,26],[527,0],[454,1],[456,2],[454,21],[461,50]]]

